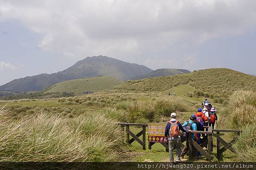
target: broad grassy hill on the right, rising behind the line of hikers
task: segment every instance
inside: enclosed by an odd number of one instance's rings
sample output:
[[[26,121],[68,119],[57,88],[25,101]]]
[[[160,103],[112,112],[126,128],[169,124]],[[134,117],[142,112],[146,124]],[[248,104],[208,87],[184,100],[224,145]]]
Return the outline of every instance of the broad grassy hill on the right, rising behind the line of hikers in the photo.
[[[126,81],[115,89],[165,91],[178,85],[190,85],[209,94],[230,95],[235,90],[256,91],[256,77],[231,69],[204,69],[188,74]]]

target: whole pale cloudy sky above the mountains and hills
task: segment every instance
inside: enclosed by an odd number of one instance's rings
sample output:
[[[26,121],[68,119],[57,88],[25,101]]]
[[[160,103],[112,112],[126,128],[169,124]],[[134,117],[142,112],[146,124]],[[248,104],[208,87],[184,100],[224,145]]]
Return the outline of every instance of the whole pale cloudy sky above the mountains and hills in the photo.
[[[98,55],[256,75],[256,1],[0,0],[0,85]]]

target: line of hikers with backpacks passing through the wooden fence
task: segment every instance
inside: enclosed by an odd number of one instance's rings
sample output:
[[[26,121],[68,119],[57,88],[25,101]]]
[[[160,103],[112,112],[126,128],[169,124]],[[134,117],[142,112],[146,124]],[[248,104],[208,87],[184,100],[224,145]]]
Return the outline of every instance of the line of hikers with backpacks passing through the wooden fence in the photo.
[[[195,114],[192,114],[189,121],[185,121],[181,124],[176,120],[176,113],[171,114],[169,122],[166,124],[165,136],[169,140],[169,156],[171,164],[174,164],[173,151],[176,148],[177,158],[176,162],[181,161],[180,157],[183,158],[184,155],[189,150],[189,131],[204,131],[204,126],[212,126],[214,129],[215,122],[217,122],[218,117],[216,114],[216,108],[212,107],[207,99],[202,103],[202,108],[199,108]],[[180,133],[180,130],[183,132]],[[205,134],[192,133],[192,139],[201,144],[202,137]],[[186,146],[181,150],[182,141],[186,141]],[[192,148],[193,156],[201,156],[200,152],[196,152],[195,148]]]

